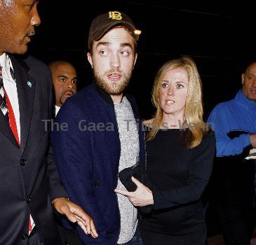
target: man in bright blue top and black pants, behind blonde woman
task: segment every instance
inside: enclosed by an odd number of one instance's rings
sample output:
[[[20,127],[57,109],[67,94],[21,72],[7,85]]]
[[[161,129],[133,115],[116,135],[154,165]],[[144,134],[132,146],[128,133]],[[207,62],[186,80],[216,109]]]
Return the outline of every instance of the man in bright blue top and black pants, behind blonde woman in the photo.
[[[241,78],[236,97],[217,104],[208,118],[217,144],[212,204],[230,245],[250,245],[255,206],[255,160],[245,158],[256,148],[256,62]]]

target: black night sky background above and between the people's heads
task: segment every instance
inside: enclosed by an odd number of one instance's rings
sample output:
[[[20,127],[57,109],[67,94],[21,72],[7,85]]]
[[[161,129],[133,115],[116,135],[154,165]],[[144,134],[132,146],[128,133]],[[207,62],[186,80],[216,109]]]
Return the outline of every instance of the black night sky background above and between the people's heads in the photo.
[[[81,88],[92,78],[86,58],[90,22],[100,13],[121,10],[142,30],[128,89],[142,118],[154,111],[151,87],[156,71],[177,55],[191,56],[198,66],[206,118],[213,106],[234,97],[244,67],[256,60],[252,3],[41,0],[41,26],[30,52],[46,63],[67,59],[78,71]]]

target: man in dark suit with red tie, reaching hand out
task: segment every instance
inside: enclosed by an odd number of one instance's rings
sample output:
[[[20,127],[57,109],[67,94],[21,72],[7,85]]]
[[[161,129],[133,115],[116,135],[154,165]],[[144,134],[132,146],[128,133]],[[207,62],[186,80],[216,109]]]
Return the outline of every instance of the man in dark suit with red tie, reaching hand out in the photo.
[[[12,55],[27,52],[40,24],[37,3],[0,1],[0,244],[60,244],[52,204],[86,233],[93,227],[68,200],[50,153],[50,71],[33,57]]]

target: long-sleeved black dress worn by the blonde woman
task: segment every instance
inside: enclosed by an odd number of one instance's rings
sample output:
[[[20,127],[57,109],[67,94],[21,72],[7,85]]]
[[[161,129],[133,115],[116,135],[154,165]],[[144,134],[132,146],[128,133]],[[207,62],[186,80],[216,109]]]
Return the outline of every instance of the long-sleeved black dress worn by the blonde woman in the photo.
[[[201,195],[210,178],[215,134],[187,148],[188,130],[159,130],[147,141],[147,172],[154,182],[154,211],[142,216],[145,245],[204,245],[206,224]]]

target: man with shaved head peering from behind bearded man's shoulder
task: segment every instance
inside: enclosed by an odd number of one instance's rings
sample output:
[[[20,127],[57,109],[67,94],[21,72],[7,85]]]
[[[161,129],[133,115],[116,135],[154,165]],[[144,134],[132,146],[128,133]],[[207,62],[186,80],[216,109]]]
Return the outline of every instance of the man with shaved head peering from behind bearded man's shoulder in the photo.
[[[62,104],[76,93],[76,69],[65,60],[56,60],[49,64],[50,72],[53,78],[53,87],[55,91],[55,116]]]

